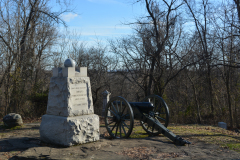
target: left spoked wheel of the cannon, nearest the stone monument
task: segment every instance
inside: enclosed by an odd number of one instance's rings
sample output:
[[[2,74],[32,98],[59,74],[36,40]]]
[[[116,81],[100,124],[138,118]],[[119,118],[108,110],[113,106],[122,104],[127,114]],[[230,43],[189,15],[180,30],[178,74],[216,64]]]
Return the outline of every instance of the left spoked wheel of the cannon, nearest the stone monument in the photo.
[[[105,110],[105,126],[112,138],[128,138],[134,124],[130,104],[122,97],[111,98]]]

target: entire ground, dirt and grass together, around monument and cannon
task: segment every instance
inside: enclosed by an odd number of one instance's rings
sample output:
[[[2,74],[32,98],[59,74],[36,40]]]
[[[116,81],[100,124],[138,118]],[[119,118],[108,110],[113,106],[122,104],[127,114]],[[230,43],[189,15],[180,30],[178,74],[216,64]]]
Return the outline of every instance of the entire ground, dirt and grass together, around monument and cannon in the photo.
[[[170,125],[168,127],[170,130],[192,142],[191,145],[176,146],[161,135],[149,137],[142,134],[143,130],[137,122],[132,138],[109,139],[105,126],[101,123],[100,141],[67,148],[42,143],[39,139],[39,126],[40,121],[25,122],[23,127],[14,129],[1,128],[0,160],[240,159],[240,152],[238,152],[240,147],[232,147],[240,144],[239,133],[228,134],[228,131],[212,126]]]

